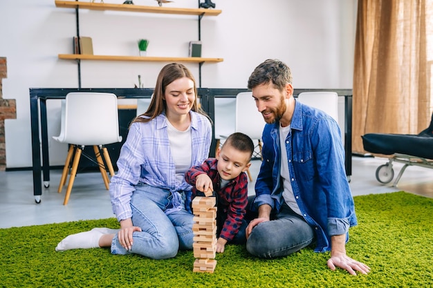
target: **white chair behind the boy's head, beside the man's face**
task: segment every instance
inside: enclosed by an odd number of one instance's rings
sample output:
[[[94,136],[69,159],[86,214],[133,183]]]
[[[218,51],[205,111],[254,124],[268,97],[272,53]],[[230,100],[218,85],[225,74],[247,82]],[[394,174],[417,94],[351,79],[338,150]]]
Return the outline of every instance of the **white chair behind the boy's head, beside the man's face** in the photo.
[[[261,158],[261,133],[263,132],[266,124],[263,116],[257,110],[252,92],[241,92],[236,96],[236,112],[234,120],[234,132],[241,132],[250,136],[254,141],[257,140],[258,144],[255,148],[259,148],[258,153],[253,153],[253,157],[259,156]],[[221,139],[228,137],[228,135],[220,135]],[[217,140],[216,147],[219,146]],[[252,181],[250,170],[247,170],[248,178]]]

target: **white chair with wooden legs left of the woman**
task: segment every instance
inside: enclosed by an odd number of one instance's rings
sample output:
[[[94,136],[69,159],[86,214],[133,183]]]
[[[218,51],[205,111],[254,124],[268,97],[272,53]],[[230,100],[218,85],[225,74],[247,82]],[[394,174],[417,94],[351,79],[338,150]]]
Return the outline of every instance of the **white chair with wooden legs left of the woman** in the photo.
[[[84,146],[93,146],[105,187],[109,189],[107,168],[111,176],[114,175],[114,169],[104,145],[122,141],[117,103],[117,97],[112,93],[68,93],[62,102],[61,131],[53,139],[69,144],[58,189],[61,193],[71,169],[64,205],[68,204]]]

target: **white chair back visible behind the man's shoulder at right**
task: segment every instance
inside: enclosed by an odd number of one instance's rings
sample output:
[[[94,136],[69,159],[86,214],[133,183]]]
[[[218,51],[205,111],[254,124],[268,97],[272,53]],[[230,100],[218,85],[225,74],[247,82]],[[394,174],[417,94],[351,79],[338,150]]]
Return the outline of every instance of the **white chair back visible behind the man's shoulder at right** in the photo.
[[[322,110],[338,122],[338,94],[335,92],[303,92],[297,99],[308,106]]]

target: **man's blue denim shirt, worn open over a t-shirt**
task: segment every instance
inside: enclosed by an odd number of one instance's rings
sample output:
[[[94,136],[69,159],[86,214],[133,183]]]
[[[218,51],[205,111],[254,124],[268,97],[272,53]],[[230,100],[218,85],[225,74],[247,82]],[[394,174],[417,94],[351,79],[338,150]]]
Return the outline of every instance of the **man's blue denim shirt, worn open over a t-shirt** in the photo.
[[[253,209],[269,204],[277,212],[284,203],[279,122],[266,124],[262,139],[263,162]],[[330,251],[331,236],[346,234],[349,240],[349,227],[357,224],[340,128],[331,116],[296,101],[284,148],[295,200],[315,230],[315,251]]]

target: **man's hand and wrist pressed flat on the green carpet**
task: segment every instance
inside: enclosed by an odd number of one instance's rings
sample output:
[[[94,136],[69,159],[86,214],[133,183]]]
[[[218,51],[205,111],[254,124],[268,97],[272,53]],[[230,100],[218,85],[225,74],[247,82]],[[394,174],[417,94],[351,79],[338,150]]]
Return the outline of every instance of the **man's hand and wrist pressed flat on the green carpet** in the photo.
[[[335,271],[335,267],[339,267],[351,275],[356,275],[356,271],[360,271],[362,274],[369,273],[370,267],[346,255],[345,246],[346,235],[331,236],[331,258],[327,262],[329,269]]]

